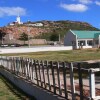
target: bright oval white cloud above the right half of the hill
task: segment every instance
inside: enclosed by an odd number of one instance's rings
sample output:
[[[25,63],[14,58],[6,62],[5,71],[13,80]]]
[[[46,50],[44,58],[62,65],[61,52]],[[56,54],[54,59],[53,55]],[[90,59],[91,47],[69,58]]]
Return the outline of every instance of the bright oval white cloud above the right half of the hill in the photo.
[[[88,7],[83,4],[60,4],[60,7],[73,12],[84,12],[88,10]]]

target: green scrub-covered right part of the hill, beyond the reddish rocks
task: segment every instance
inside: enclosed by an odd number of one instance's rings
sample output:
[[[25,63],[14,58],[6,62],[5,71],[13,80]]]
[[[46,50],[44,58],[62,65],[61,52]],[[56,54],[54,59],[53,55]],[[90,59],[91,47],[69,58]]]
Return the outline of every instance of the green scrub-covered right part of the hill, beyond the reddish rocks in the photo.
[[[46,38],[50,40],[53,34],[59,35],[63,39],[64,35],[68,30],[99,30],[87,22],[80,21],[41,21],[44,24],[44,29],[49,29],[46,33],[40,34],[37,38]],[[35,37],[36,38],[36,37]]]

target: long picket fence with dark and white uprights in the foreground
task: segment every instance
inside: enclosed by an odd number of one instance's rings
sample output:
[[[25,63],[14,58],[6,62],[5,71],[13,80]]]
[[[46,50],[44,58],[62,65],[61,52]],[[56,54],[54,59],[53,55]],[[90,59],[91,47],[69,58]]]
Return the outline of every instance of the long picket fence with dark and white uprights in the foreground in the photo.
[[[65,99],[100,99],[95,87],[99,63],[39,61],[23,57],[0,57],[1,68]],[[99,91],[100,93],[100,91]]]

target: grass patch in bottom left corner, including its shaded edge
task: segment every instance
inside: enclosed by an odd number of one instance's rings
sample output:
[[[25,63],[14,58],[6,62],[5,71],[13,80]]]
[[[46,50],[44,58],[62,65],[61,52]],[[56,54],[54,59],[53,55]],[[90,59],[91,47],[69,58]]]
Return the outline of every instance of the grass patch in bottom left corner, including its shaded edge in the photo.
[[[0,100],[30,100],[29,97],[0,75]],[[34,99],[32,99],[34,100]]]

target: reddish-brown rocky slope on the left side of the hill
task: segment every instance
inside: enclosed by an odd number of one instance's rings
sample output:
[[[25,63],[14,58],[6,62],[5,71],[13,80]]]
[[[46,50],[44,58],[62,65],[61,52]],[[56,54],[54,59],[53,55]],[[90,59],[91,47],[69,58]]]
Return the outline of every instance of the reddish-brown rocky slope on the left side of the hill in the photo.
[[[10,34],[13,35],[14,38],[19,38],[20,34],[22,34],[23,32],[25,32],[26,34],[31,35],[31,37],[37,36],[42,34],[43,32],[47,32],[47,30],[42,29],[42,28],[37,28],[37,27],[28,27],[28,26],[6,26],[6,27],[2,27],[0,28],[0,31],[6,33],[6,34]]]

